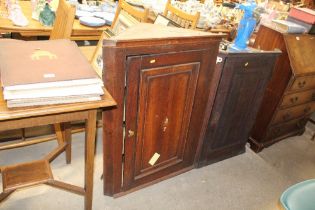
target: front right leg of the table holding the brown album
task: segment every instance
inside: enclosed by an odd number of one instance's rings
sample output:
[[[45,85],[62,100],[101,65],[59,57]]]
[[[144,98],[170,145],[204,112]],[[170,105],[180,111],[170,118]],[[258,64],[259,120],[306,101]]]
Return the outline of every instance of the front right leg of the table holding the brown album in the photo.
[[[89,111],[85,132],[85,210],[92,210],[96,110]]]

